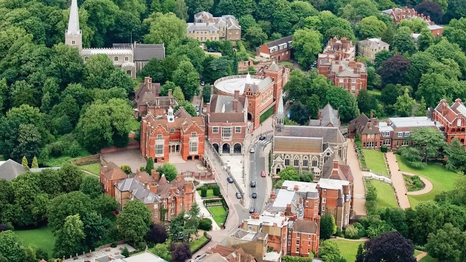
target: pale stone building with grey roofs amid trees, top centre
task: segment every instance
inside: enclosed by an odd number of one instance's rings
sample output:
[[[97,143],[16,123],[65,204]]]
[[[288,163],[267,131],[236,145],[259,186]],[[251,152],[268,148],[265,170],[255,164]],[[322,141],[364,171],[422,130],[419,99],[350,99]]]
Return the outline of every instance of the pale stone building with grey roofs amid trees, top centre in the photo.
[[[241,26],[233,15],[213,17],[208,12],[194,14],[194,21],[186,23],[187,37],[201,42],[232,41],[233,45],[241,39]]]

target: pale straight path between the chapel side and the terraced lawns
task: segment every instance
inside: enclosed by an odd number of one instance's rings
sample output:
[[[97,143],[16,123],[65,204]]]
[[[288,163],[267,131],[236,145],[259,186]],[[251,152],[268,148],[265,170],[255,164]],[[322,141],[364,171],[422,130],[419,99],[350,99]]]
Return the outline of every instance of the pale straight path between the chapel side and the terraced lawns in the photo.
[[[351,169],[353,174],[353,185],[354,185],[354,194],[356,195],[365,195],[366,189],[364,187],[363,171],[359,165],[359,159],[357,159],[355,152],[355,145],[351,139],[348,141],[348,152],[347,152],[347,164]],[[366,212],[366,200],[365,199],[354,199],[354,211],[358,215],[365,215]]]

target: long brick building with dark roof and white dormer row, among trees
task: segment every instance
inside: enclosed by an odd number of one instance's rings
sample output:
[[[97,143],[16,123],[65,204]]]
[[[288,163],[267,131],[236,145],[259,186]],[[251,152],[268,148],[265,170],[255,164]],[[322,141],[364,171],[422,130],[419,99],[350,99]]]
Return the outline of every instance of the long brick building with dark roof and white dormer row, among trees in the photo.
[[[291,60],[293,35],[270,41],[256,49],[256,55],[273,58],[276,61]]]

